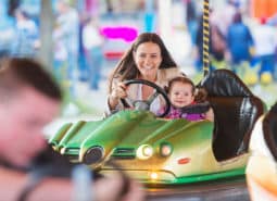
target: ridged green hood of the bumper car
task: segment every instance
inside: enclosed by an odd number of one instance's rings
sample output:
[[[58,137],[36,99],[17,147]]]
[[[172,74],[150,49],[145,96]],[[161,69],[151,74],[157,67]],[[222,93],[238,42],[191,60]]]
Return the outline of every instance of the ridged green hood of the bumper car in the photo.
[[[178,145],[180,135],[184,141],[197,145],[202,138],[211,139],[212,129],[213,124],[206,121],[196,123],[186,120],[164,120],[156,118],[151,112],[122,111],[95,126],[80,145],[80,154],[97,146],[104,148],[108,155],[116,148],[137,148],[140,145],[155,147],[164,141]],[[210,135],[204,135],[206,131]]]

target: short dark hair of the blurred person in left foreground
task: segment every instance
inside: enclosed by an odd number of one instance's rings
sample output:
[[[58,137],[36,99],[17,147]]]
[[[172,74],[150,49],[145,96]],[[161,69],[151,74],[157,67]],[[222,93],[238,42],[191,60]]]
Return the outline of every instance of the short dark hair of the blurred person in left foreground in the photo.
[[[16,95],[25,86],[33,87],[53,100],[62,99],[60,87],[40,63],[24,58],[1,59],[0,97]]]

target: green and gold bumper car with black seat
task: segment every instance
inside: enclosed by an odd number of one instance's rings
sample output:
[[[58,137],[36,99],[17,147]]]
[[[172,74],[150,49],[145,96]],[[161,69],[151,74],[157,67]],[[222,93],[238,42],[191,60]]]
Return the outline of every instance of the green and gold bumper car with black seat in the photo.
[[[147,184],[243,175],[250,135],[265,112],[264,103],[227,70],[210,72],[198,87],[209,92],[214,122],[165,120],[161,117],[164,114],[126,110],[101,121],[65,124],[49,143],[72,162],[85,163],[102,174],[115,171],[108,163],[113,160]],[[142,102],[152,102],[159,96]],[[136,108],[139,101],[126,102]]]

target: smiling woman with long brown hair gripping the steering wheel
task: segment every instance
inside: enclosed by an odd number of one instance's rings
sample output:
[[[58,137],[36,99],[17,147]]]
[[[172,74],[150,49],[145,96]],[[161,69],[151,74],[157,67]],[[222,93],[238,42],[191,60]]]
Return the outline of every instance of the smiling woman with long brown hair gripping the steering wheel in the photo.
[[[119,100],[127,97],[127,87],[123,81],[144,79],[164,87],[167,86],[171,78],[179,75],[181,73],[160,36],[154,33],[139,35],[130,49],[118,62],[110,78],[109,112],[124,109]],[[144,100],[153,93],[153,88],[146,85],[128,88],[128,91],[134,93],[137,99]],[[160,104],[159,101],[153,101],[152,103],[155,108]]]

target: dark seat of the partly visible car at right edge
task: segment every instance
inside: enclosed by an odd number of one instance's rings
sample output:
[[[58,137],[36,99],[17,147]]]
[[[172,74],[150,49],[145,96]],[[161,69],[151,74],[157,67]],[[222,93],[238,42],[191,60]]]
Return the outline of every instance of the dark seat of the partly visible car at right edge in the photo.
[[[277,161],[277,102],[264,117],[263,134],[269,151]]]

